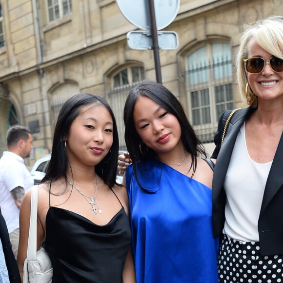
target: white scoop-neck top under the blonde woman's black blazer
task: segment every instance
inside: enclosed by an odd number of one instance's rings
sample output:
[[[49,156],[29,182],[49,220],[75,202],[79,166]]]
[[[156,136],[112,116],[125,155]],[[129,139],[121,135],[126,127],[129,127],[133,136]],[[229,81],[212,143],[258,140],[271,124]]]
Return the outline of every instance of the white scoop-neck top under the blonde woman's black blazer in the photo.
[[[244,124],[232,152],[224,181],[227,196],[223,233],[229,238],[258,242],[258,220],[272,161],[254,162],[247,151]]]

